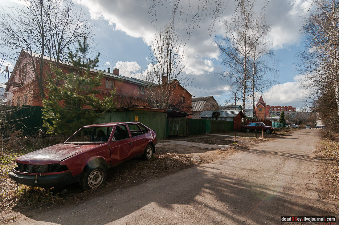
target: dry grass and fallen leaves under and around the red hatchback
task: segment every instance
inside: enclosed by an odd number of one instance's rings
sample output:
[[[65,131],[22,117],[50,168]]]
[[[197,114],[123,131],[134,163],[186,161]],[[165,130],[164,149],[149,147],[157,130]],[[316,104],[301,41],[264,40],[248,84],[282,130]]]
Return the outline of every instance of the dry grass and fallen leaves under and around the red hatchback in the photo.
[[[68,193],[61,195],[60,189],[16,185],[8,177],[8,172],[15,166],[13,159],[16,156],[13,155],[12,158],[4,158],[1,161],[1,209],[12,208],[13,206],[20,208],[27,206],[39,207],[45,204],[79,201],[88,198],[92,194],[112,190],[112,188],[125,188],[136,185],[148,179],[183,170],[197,163],[188,154],[172,153],[165,149],[157,148],[157,153],[149,161],[144,161],[141,157],[138,157],[109,169],[105,185],[101,187],[84,191],[78,184],[73,184],[68,187]]]

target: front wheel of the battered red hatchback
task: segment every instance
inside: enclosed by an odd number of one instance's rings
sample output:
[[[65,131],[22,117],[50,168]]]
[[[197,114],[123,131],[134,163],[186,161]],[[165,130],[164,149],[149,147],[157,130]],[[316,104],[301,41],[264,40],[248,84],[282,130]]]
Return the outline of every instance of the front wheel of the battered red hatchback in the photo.
[[[91,189],[102,185],[106,180],[106,169],[102,165],[87,167],[82,173],[80,185],[83,189]]]

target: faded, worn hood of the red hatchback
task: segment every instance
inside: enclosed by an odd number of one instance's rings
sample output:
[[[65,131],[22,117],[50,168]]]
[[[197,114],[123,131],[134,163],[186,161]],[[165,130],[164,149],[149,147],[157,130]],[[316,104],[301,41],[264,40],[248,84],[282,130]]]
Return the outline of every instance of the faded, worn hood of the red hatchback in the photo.
[[[15,159],[16,162],[32,165],[45,165],[59,163],[61,160],[97,147],[97,144],[56,144],[44,149],[22,155]]]

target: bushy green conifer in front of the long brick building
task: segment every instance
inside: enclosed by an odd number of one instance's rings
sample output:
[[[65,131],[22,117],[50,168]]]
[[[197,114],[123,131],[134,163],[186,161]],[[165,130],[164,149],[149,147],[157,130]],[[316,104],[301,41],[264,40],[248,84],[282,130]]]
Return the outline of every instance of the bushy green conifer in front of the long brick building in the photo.
[[[104,100],[95,96],[104,75],[97,72],[93,76],[89,70],[98,66],[100,53],[94,59],[87,58],[86,37],[78,40],[78,45],[76,52],[68,48],[74,72],[64,73],[51,64],[52,75],[46,77],[48,98],[43,100],[43,127],[48,128],[48,133],[71,135],[82,126],[95,123],[104,112],[114,111],[116,106],[115,91]]]

